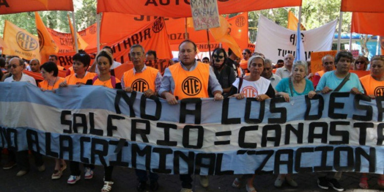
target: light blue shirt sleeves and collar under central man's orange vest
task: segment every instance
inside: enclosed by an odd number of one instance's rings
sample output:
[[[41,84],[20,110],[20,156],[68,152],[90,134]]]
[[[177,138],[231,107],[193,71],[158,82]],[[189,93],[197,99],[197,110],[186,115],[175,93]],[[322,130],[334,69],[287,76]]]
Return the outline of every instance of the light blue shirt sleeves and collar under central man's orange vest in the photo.
[[[195,70],[195,68],[197,66],[197,62],[198,61],[195,60],[195,64],[189,70],[181,62],[180,62],[180,64],[174,64],[174,65],[181,65],[181,67],[185,71],[193,71],[193,70]],[[208,64],[206,64],[206,65],[208,65]],[[214,94],[215,91],[223,92],[223,89],[221,88],[221,85],[216,78],[215,72],[214,72],[214,70],[212,70],[211,67],[209,67],[208,87],[210,88],[212,94]],[[159,95],[161,95],[164,91],[170,92],[170,93],[173,93],[175,91],[175,80],[172,77],[172,74],[170,73],[168,68],[166,68],[164,70],[164,75],[163,75],[163,78],[161,79],[161,86],[160,86],[160,90],[159,90]]]

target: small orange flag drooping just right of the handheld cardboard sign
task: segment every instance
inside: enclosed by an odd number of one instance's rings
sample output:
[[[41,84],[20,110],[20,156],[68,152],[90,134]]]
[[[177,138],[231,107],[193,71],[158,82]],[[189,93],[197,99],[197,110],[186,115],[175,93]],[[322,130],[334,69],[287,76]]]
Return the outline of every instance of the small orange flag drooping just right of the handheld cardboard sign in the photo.
[[[217,42],[224,42],[238,57],[241,57],[241,49],[236,40],[229,34],[230,25],[228,21],[223,17],[220,18],[220,27],[210,28],[209,31],[214,36]]]

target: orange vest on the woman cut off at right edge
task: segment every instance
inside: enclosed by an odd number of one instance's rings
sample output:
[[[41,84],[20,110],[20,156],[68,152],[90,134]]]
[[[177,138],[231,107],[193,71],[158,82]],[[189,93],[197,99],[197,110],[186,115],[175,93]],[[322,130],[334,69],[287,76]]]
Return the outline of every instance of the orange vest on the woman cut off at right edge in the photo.
[[[384,81],[377,81],[371,75],[360,77],[360,82],[367,95],[384,96]]]

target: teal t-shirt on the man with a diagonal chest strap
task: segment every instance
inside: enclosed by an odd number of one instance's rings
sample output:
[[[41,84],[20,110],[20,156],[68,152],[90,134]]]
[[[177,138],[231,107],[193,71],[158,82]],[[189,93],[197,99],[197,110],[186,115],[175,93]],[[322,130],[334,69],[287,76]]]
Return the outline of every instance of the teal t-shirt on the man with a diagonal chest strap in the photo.
[[[335,75],[335,70],[328,71],[324,73],[322,78],[320,78],[320,81],[318,82],[316,87],[316,91],[322,91],[326,86],[331,90],[335,90],[337,86],[343,81],[343,79],[344,78],[338,78]],[[362,89],[359,78],[354,73],[351,73],[349,80],[338,92],[350,92],[352,88],[357,88],[359,92],[364,93],[364,89]]]

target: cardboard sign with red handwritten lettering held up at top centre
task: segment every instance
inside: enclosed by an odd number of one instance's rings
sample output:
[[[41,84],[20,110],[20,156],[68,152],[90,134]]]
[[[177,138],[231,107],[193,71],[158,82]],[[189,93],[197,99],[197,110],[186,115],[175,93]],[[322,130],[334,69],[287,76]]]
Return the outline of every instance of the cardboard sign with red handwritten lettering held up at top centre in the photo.
[[[191,0],[190,9],[196,31],[220,27],[217,0]]]

